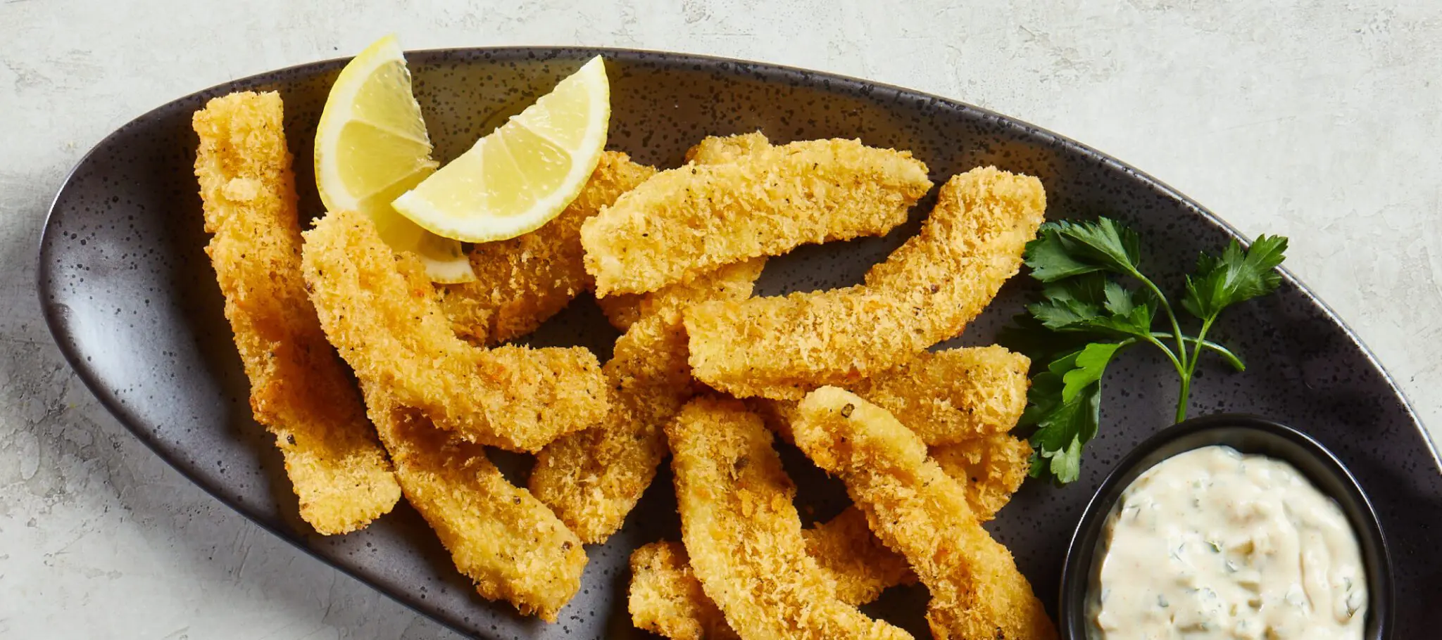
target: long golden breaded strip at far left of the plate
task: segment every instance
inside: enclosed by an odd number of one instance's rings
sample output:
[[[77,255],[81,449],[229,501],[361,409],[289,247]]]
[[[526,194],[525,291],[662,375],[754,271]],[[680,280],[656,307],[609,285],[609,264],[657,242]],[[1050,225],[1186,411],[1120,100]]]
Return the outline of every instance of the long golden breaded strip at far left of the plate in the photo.
[[[401,487],[360,395],[306,300],[280,95],[215,98],[192,118],[206,254],[251,381],[251,411],[286,460],[300,517],[324,535],[366,526]]]

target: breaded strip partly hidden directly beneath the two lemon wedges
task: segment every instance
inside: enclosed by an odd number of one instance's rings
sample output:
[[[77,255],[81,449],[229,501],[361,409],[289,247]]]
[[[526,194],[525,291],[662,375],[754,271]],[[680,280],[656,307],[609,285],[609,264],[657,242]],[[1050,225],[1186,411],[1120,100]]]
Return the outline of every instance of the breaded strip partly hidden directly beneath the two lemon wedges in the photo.
[[[581,222],[655,173],[624,153],[606,151],[581,195],[554,221],[519,238],[472,248],[476,281],[437,287],[456,333],[479,345],[525,336],[591,288],[581,264]]]

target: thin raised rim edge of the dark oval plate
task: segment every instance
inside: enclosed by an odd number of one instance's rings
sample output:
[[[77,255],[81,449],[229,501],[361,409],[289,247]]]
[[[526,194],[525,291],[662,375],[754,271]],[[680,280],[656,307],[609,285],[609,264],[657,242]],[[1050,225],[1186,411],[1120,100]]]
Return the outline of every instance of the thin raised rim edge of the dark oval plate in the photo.
[[[910,97],[914,97],[914,98],[921,98],[921,99],[926,99],[926,101],[933,101],[933,102],[945,104],[945,105],[947,105],[947,107],[950,107],[953,110],[957,110],[957,111],[970,111],[970,112],[975,112],[975,114],[978,114],[978,115],[981,115],[983,118],[989,118],[989,120],[1001,121],[1001,123],[1012,125],[1012,127],[1018,127],[1018,128],[1021,128],[1021,130],[1024,130],[1027,133],[1032,133],[1032,134],[1040,134],[1040,135],[1050,137],[1054,141],[1063,144],[1064,147],[1070,147],[1073,150],[1073,153],[1080,153],[1082,156],[1084,156],[1087,159],[1093,159],[1093,160],[1097,160],[1100,163],[1110,164],[1115,169],[1119,169],[1120,172],[1132,176],[1133,179],[1138,179],[1141,183],[1149,186],[1151,189],[1159,192],[1161,195],[1177,200],[1178,203],[1184,205],[1187,209],[1191,209],[1194,213],[1200,215],[1206,222],[1208,222],[1208,223],[1220,228],[1221,231],[1224,231],[1230,236],[1242,239],[1244,242],[1250,242],[1250,239],[1244,234],[1242,234],[1236,226],[1233,226],[1231,223],[1229,223],[1227,221],[1224,221],[1223,218],[1220,218],[1218,215],[1216,215],[1214,212],[1211,212],[1210,209],[1207,209],[1206,206],[1203,206],[1201,203],[1198,203],[1197,200],[1194,200],[1190,196],[1181,193],[1180,190],[1177,190],[1171,185],[1168,185],[1168,183],[1165,183],[1165,182],[1154,177],[1152,174],[1149,174],[1146,172],[1142,172],[1142,170],[1136,169],[1135,166],[1132,166],[1132,164],[1129,164],[1126,161],[1122,161],[1120,159],[1118,159],[1118,157],[1115,157],[1112,154],[1107,154],[1107,153],[1105,153],[1102,150],[1097,150],[1097,148],[1094,148],[1092,146],[1087,146],[1087,144],[1080,143],[1077,140],[1073,140],[1070,137],[1057,134],[1056,131],[1051,131],[1051,130],[1048,130],[1045,127],[1038,127],[1038,125],[1031,124],[1028,121],[1024,121],[1024,120],[1019,120],[1019,118],[1015,118],[1015,117],[1011,117],[1011,115],[1005,115],[1005,114],[1001,114],[998,111],[992,111],[992,110],[988,110],[988,108],[983,108],[983,107],[978,107],[978,105],[973,105],[970,102],[965,102],[965,101],[955,99],[955,98],[946,98],[946,97],[930,94],[930,92],[924,92],[924,91],[910,89],[910,88],[900,86],[900,85],[893,85],[893,84],[887,84],[887,82],[877,82],[877,81],[868,81],[868,79],[864,79],[864,78],[857,78],[857,76],[849,76],[849,75],[842,75],[842,74],[835,74],[835,72],[828,72],[828,71],[815,71],[815,69],[806,69],[806,68],[800,68],[800,66],[780,65],[780,63],[773,63],[773,62],[760,62],[760,61],[748,61],[748,59],[741,59],[741,58],[715,56],[715,55],[705,55],[705,53],[673,52],[673,50],[660,50],[660,49],[610,48],[610,46],[570,46],[570,45],[565,45],[565,46],[522,45],[522,46],[457,46],[457,48],[430,48],[430,49],[407,49],[405,50],[405,55],[407,55],[408,61],[411,59],[411,56],[415,56],[415,58],[424,58],[424,62],[446,62],[446,59],[451,58],[451,56],[476,56],[476,55],[487,55],[487,53],[493,55],[496,58],[500,58],[500,59],[541,59],[541,61],[544,61],[544,59],[557,59],[557,58],[562,58],[564,59],[564,58],[568,58],[571,55],[575,55],[575,56],[584,56],[584,55],[594,56],[594,55],[600,55],[603,58],[611,58],[611,59],[624,59],[624,61],[634,61],[634,62],[662,62],[662,63],[671,63],[671,65],[689,65],[689,63],[725,65],[725,63],[730,63],[730,65],[746,66],[748,71],[754,72],[756,75],[764,76],[763,78],[764,81],[771,81],[771,82],[774,82],[777,79],[784,79],[784,78],[797,78],[797,79],[806,79],[808,84],[813,84],[813,81],[819,78],[819,79],[825,79],[825,81],[831,81],[831,82],[841,82],[841,84],[851,85],[851,86],[855,86],[855,88],[884,89],[884,91],[895,92],[897,95],[910,95]],[[170,108],[172,105],[174,105],[177,102],[189,101],[189,99],[206,99],[209,97],[219,95],[221,92],[241,91],[241,89],[245,89],[245,88],[262,84],[262,81],[261,81],[262,76],[275,76],[275,75],[287,74],[287,72],[301,72],[301,71],[307,71],[307,69],[310,69],[310,71],[319,71],[319,69],[324,69],[326,66],[339,66],[340,63],[343,63],[345,61],[349,61],[352,58],[353,56],[340,56],[340,58],[327,58],[327,59],[320,59],[320,61],[303,62],[303,63],[281,66],[281,68],[275,68],[275,69],[261,71],[261,72],[245,75],[245,76],[241,76],[241,78],[234,78],[234,79],[226,81],[226,82],[219,82],[219,84],[202,88],[199,91],[193,91],[190,94],[186,94],[186,95],[169,99],[166,102],[162,102],[162,104],[150,108],[150,110],[146,110],[144,112],[141,112],[141,114],[138,114],[138,115],[127,120],[124,124],[118,125],[117,128],[114,128],[112,131],[110,131],[108,134],[105,134],[101,140],[98,140],[94,146],[91,146],[91,148],[87,150],[75,161],[75,164],[66,172],[65,179],[61,182],[59,187],[56,189],[55,196],[50,199],[50,205],[46,208],[45,222],[43,222],[42,229],[40,229],[40,236],[37,238],[37,242],[36,242],[37,244],[37,252],[36,252],[36,277],[35,277],[36,298],[37,298],[37,301],[40,304],[40,314],[42,314],[42,317],[45,320],[46,329],[50,333],[50,339],[55,343],[55,346],[61,350],[61,355],[65,357],[66,365],[69,365],[71,370],[75,372],[76,378],[81,379],[81,382],[85,385],[85,389],[91,392],[91,395],[99,402],[99,405],[107,412],[110,412],[117,419],[117,422],[120,422],[127,431],[130,431],[130,434],[134,435],[136,440],[138,440],[141,444],[144,444],[146,448],[149,448],[151,454],[154,454],[162,461],[164,461],[170,468],[179,471],[182,477],[185,477],[192,484],[200,487],[200,490],[203,490],[211,497],[216,499],[218,502],[221,502],[222,505],[225,505],[231,510],[239,513],[247,520],[249,520],[251,523],[260,526],[261,529],[267,530],[268,533],[275,535],[277,538],[288,542],[291,546],[296,546],[297,549],[300,549],[306,555],[309,555],[309,556],[314,558],[316,561],[319,561],[319,562],[330,566],[332,569],[340,571],[342,574],[345,574],[345,575],[348,575],[348,577],[350,577],[350,578],[353,578],[353,579],[365,584],[369,588],[373,588],[375,591],[379,591],[381,594],[384,594],[388,598],[391,598],[391,600],[402,604],[404,607],[410,608],[411,611],[415,611],[415,613],[418,613],[421,615],[425,615],[427,618],[434,620],[435,623],[438,623],[438,624],[441,624],[441,626],[444,626],[444,627],[447,627],[447,628],[450,628],[453,631],[457,631],[461,636],[469,636],[472,633],[472,630],[461,628],[461,627],[459,627],[456,623],[453,623],[450,620],[446,620],[446,618],[443,618],[440,615],[435,615],[435,614],[433,614],[430,611],[425,611],[425,610],[420,608],[418,603],[411,603],[411,601],[408,601],[405,598],[401,598],[399,594],[392,594],[391,591],[388,591],[385,588],[378,588],[378,585],[373,585],[372,581],[368,577],[365,577],[363,574],[360,574],[358,571],[353,571],[349,566],[335,564],[330,559],[322,556],[317,551],[311,549],[306,543],[306,538],[304,536],[293,535],[291,532],[283,530],[281,528],[274,526],[274,525],[265,522],[264,519],[261,519],[255,513],[252,513],[249,509],[247,509],[245,506],[239,505],[236,500],[232,500],[232,499],[229,499],[226,496],[219,494],[218,493],[218,487],[212,489],[208,483],[199,481],[199,479],[193,473],[190,473],[189,470],[183,468],[180,464],[177,464],[176,460],[173,460],[167,453],[164,453],[162,450],[160,444],[151,437],[150,432],[146,431],[144,421],[141,421],[141,419],[138,419],[138,417],[133,415],[131,411],[130,411],[130,408],[124,402],[121,402],[118,399],[118,396],[115,396],[114,394],[111,394],[110,389],[105,388],[105,385],[101,383],[97,372],[92,370],[88,365],[85,365],[84,355],[79,353],[75,349],[75,346],[74,346],[74,340],[72,340],[74,339],[74,332],[71,330],[72,327],[71,327],[69,319],[66,317],[68,314],[63,313],[62,308],[61,308],[61,307],[65,307],[65,306],[61,304],[61,303],[52,303],[50,300],[46,298],[46,293],[53,288],[52,283],[56,281],[55,277],[53,277],[53,272],[52,272],[52,264],[53,264],[53,261],[49,259],[49,258],[52,255],[52,251],[58,245],[58,242],[52,236],[52,232],[53,232],[53,226],[56,223],[58,209],[59,209],[59,205],[61,205],[61,199],[65,195],[65,192],[71,187],[71,183],[74,182],[75,174],[79,172],[79,169],[84,167],[91,160],[91,157],[95,156],[95,153],[98,150],[107,147],[111,140],[114,140],[115,137],[121,135],[123,133],[125,133],[131,127],[137,125],[138,123],[151,120],[157,112],[160,112],[160,111],[163,111],[166,108]],[[466,63],[469,61],[460,61],[460,62]],[[1397,402],[1400,402],[1400,405],[1402,405],[1406,417],[1412,421],[1412,427],[1416,428],[1416,431],[1420,432],[1422,441],[1426,445],[1428,453],[1430,454],[1433,468],[1438,470],[1439,473],[1442,473],[1442,453],[1439,453],[1436,443],[1433,441],[1430,432],[1428,431],[1426,424],[1422,421],[1422,418],[1417,415],[1416,409],[1413,408],[1412,401],[1407,398],[1406,392],[1397,385],[1397,379],[1387,370],[1386,366],[1381,365],[1381,362],[1377,359],[1376,353],[1367,346],[1366,342],[1363,342],[1363,339],[1357,334],[1357,332],[1353,330],[1353,327],[1350,324],[1347,324],[1337,314],[1337,311],[1332,310],[1331,306],[1328,306],[1325,301],[1322,301],[1322,298],[1319,295],[1317,295],[1317,293],[1311,287],[1308,287],[1305,283],[1302,283],[1286,267],[1280,267],[1279,271],[1280,271],[1282,277],[1289,284],[1292,284],[1293,287],[1298,288],[1298,291],[1305,297],[1305,300],[1308,303],[1314,304],[1330,321],[1332,321],[1337,327],[1341,329],[1343,334],[1345,334],[1347,339],[1351,340],[1351,343],[1357,346],[1357,349],[1361,352],[1361,355],[1367,360],[1367,363],[1370,363],[1373,366],[1373,369],[1376,369],[1381,375],[1383,381],[1387,383],[1387,386],[1390,388],[1390,391],[1394,395],[1394,398],[1397,399]]]

